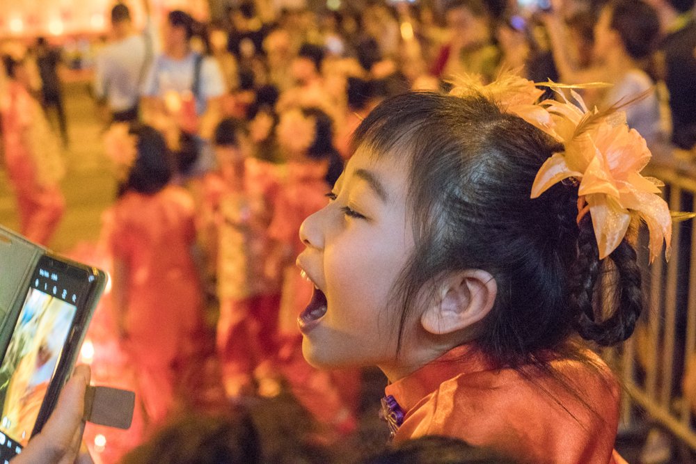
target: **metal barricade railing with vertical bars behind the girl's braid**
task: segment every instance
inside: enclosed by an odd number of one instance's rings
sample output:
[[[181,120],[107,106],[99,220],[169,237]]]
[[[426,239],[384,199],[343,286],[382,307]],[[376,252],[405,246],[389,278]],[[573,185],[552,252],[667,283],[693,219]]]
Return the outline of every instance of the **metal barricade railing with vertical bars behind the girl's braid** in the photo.
[[[695,211],[696,157],[677,152],[646,170],[665,182],[663,193],[672,211]],[[647,237],[638,256],[643,271],[646,310],[633,337],[606,358],[621,376],[622,424],[630,429],[647,418],[696,449],[692,405],[683,395],[686,367],[696,357],[696,224],[674,224],[669,261],[648,265]],[[696,381],[696,376],[694,378]]]

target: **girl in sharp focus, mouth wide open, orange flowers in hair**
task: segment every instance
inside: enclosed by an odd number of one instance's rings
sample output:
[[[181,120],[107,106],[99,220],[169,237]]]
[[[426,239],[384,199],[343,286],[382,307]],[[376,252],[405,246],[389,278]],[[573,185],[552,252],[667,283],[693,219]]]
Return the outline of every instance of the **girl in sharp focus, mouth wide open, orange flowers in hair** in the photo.
[[[669,245],[667,205],[638,174],[649,151],[615,115],[535,104],[524,79],[454,93],[394,97],[356,131],[329,205],[301,227],[297,262],[315,285],[303,354],[377,365],[397,442],[445,435],[521,462],[616,462],[619,387],[580,337],[633,331],[629,223],[647,221],[653,257]],[[610,314],[600,295],[615,296]]]

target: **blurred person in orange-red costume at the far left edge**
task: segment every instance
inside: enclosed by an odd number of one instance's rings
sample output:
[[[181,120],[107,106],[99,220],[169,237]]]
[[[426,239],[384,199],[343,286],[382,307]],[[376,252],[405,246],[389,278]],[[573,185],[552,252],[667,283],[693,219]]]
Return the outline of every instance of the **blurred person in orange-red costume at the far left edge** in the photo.
[[[0,101],[5,165],[17,196],[19,232],[47,245],[65,210],[60,143],[31,95],[25,58],[3,56],[8,82]]]

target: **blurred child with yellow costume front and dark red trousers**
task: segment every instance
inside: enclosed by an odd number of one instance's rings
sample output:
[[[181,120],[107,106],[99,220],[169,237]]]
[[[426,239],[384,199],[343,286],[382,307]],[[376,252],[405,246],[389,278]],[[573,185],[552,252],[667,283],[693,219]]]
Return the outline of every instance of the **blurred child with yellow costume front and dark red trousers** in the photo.
[[[275,166],[249,156],[241,122],[214,134],[218,168],[204,179],[203,227],[216,266],[217,349],[228,396],[253,392],[253,371],[276,354],[280,282],[269,278],[268,227],[278,191]]]

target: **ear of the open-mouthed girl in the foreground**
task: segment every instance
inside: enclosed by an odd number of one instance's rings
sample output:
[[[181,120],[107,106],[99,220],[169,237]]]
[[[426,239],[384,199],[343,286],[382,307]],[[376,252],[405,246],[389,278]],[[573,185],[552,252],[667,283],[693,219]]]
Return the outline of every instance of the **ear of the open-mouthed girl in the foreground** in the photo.
[[[453,273],[441,282],[438,299],[420,317],[427,332],[445,335],[480,321],[491,311],[498,294],[493,275],[481,269]]]

